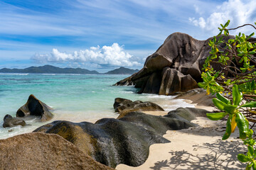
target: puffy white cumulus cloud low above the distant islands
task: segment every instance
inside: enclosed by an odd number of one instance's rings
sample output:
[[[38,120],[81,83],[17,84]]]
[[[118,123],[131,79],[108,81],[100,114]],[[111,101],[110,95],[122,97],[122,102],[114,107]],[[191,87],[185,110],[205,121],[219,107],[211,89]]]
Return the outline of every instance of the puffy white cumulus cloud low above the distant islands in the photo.
[[[75,51],[73,53],[60,52],[53,48],[50,54],[36,54],[31,60],[40,63],[48,62],[73,62],[73,63],[90,63],[92,65],[112,65],[112,66],[141,66],[142,64],[134,61],[133,56],[124,52],[124,46],[113,43],[111,46],[90,47],[90,49]]]

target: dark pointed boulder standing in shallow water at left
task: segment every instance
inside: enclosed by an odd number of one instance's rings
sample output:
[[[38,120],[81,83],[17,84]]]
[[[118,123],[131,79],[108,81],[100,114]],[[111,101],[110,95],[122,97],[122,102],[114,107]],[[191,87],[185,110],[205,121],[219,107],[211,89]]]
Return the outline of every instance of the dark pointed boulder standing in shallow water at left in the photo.
[[[21,106],[16,112],[16,117],[24,117],[27,115],[36,115],[41,118],[41,121],[48,121],[53,118],[53,113],[50,113],[50,106],[47,106],[46,103],[39,101],[38,98],[31,94],[28,97],[26,104]]]

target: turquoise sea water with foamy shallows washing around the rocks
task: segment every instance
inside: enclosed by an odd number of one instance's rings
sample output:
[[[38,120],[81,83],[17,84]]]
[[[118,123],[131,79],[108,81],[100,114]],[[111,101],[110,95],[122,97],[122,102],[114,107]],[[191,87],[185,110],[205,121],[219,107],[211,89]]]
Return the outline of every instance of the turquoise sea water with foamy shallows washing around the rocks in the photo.
[[[152,101],[165,111],[191,106],[174,96],[137,94],[133,86],[112,86],[127,75],[90,74],[0,74],[0,139],[32,132],[53,120],[94,123],[100,118],[117,118],[114,98]],[[16,116],[18,108],[33,94],[52,107],[54,118],[41,123],[37,118],[26,120],[25,127],[3,128],[4,115]],[[193,107],[193,106],[191,106]]]

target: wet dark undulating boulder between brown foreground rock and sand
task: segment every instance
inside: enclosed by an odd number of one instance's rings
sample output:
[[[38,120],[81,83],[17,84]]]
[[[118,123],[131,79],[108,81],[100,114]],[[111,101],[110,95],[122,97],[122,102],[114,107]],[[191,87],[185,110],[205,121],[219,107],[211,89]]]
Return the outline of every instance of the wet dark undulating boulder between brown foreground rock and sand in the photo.
[[[139,166],[149,155],[149,146],[169,142],[166,130],[194,126],[185,119],[126,113],[119,119],[104,118],[93,123],[54,121],[34,132],[55,133],[72,142],[97,162],[115,167],[117,164]]]

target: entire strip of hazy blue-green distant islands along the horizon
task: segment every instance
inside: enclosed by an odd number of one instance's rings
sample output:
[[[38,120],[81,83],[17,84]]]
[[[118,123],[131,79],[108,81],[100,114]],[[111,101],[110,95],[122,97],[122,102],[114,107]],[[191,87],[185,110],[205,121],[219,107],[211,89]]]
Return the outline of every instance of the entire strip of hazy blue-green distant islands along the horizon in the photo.
[[[110,72],[103,74],[134,74],[139,69],[127,69],[120,67]],[[45,73],[45,74],[102,74],[95,70],[81,69],[81,68],[60,68],[52,65],[44,65],[40,67],[28,67],[26,69],[0,69],[0,73]]]

